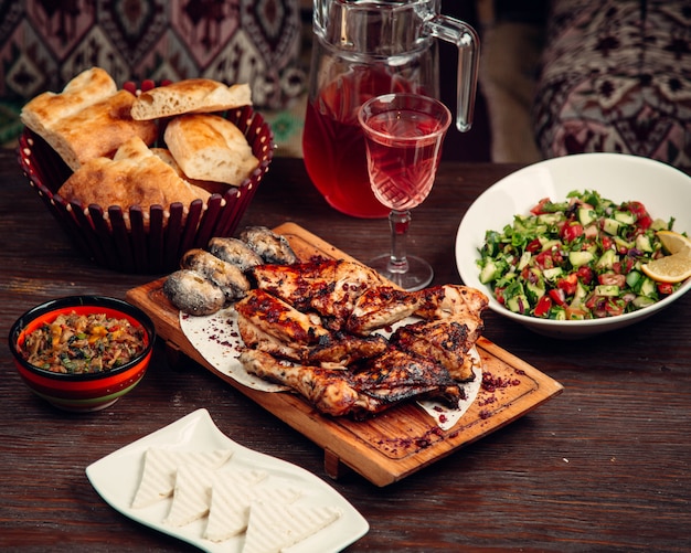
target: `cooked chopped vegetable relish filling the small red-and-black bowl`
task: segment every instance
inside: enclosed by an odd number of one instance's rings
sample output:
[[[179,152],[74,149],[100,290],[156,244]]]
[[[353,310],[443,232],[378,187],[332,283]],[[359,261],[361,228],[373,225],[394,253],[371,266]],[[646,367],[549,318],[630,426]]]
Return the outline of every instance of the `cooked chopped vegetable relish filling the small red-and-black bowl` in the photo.
[[[22,353],[39,369],[84,374],[123,366],[145,349],[143,328],[127,319],[72,311],[26,334]]]

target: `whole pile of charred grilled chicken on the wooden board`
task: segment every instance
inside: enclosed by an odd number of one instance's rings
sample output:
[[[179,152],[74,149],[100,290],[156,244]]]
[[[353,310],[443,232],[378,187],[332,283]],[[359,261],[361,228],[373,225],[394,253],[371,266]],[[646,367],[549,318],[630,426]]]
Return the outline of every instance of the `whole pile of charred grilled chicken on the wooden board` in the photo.
[[[488,305],[479,290],[406,293],[346,260],[259,265],[251,278],[257,288],[236,304],[241,362],[322,413],[363,417],[421,397],[458,403],[459,383],[474,377],[470,350]],[[411,316],[422,320],[401,323]]]

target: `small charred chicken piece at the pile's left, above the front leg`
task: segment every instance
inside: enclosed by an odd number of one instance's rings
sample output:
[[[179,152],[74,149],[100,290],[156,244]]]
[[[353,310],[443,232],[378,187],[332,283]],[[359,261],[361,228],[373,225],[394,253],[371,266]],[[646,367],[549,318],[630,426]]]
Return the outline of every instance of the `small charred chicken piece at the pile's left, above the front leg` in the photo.
[[[235,304],[235,310],[238,320],[244,317],[287,345],[313,345],[329,337],[329,331],[316,317],[300,312],[275,296],[256,288]]]

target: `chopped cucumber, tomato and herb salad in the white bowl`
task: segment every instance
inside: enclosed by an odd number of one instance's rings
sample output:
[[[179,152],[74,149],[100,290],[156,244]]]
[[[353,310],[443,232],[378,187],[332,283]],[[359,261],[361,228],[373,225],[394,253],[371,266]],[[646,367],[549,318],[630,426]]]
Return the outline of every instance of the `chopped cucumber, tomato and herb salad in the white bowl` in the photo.
[[[656,283],[641,265],[665,255],[640,202],[616,204],[595,191],[541,200],[502,232],[487,231],[480,281],[513,312],[556,320],[621,315],[659,301],[679,284]]]

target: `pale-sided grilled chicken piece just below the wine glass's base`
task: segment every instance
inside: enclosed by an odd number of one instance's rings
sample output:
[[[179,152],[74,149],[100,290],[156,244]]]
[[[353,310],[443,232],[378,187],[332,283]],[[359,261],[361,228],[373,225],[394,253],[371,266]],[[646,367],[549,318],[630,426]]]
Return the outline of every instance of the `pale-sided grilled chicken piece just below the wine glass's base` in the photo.
[[[397,288],[380,286],[370,288],[355,301],[346,330],[358,336],[369,336],[413,315],[422,305],[423,297]]]

